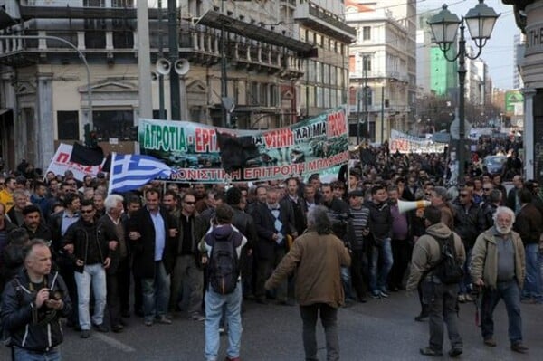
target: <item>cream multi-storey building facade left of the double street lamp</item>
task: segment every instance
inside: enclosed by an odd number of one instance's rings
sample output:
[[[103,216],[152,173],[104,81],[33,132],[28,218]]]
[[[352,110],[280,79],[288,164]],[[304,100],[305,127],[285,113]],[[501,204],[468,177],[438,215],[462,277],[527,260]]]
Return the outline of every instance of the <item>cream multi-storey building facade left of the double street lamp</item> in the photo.
[[[347,1],[346,6],[347,24],[357,29],[349,50],[350,134],[383,142],[392,129],[414,127],[416,2]]]

